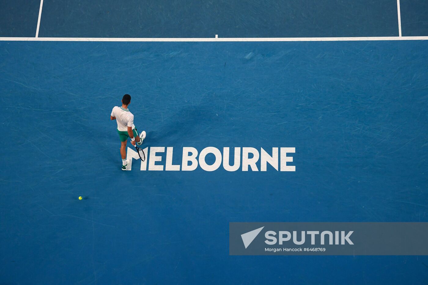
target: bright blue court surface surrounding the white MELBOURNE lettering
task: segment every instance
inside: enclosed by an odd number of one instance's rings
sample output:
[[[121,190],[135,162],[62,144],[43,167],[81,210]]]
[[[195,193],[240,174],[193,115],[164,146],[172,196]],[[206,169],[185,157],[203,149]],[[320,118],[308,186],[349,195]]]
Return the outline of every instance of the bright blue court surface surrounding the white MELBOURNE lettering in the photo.
[[[426,284],[424,256],[230,256],[229,222],[428,222],[428,42],[0,51],[0,283]],[[121,170],[109,117],[125,93],[146,170]]]

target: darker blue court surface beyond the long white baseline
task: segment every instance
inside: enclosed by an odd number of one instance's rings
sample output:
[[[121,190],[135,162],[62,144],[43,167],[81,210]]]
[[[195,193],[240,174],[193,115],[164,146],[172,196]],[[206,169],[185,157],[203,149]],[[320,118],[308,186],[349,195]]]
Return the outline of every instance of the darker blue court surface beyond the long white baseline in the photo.
[[[40,1],[2,0],[0,37],[34,37]],[[428,36],[428,2],[401,0],[402,36]],[[398,36],[397,0],[45,0],[39,37]]]

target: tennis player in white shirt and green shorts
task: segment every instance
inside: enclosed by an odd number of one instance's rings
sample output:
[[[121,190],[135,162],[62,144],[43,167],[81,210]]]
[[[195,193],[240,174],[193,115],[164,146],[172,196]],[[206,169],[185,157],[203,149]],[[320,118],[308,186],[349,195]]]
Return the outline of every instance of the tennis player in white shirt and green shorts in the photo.
[[[128,106],[131,103],[131,96],[129,94],[123,95],[122,106],[115,106],[111,111],[110,120],[116,120],[117,132],[119,133],[120,139],[120,155],[122,156],[122,170],[126,170],[128,162],[126,161],[126,143],[128,137],[131,139],[132,145],[141,145],[146,132],[142,131],[138,136],[137,129],[134,126],[134,115],[128,110]]]

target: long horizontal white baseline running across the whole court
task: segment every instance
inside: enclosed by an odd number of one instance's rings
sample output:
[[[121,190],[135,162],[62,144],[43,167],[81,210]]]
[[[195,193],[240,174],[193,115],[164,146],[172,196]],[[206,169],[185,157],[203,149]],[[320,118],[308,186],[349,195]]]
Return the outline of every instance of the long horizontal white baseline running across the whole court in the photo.
[[[336,41],[402,41],[428,40],[412,37],[343,37],[343,38],[18,38],[0,37],[0,41],[30,42],[336,42]]]

